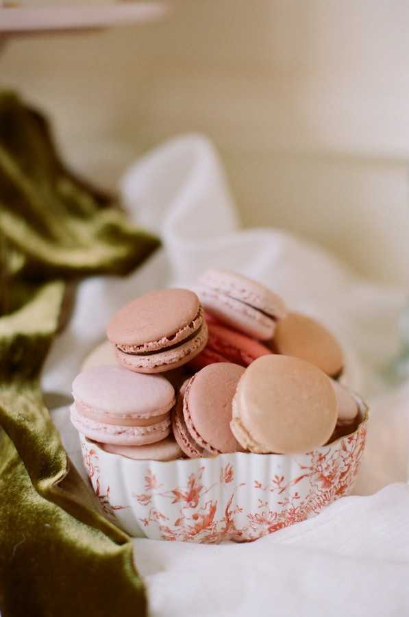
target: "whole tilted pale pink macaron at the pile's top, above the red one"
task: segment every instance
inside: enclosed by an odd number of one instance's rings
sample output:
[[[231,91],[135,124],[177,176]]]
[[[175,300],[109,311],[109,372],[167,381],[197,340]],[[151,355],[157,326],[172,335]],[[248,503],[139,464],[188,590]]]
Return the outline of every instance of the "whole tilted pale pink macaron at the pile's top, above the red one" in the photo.
[[[195,291],[205,309],[223,324],[260,341],[273,337],[277,320],[287,313],[279,295],[228,270],[207,270],[200,276]]]

